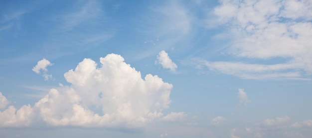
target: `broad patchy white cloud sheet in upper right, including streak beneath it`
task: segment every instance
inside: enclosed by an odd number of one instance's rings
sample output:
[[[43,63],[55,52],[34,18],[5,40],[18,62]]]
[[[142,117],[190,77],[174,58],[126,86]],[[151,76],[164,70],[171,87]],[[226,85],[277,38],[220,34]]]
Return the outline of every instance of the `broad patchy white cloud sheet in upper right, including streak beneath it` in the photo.
[[[273,64],[206,62],[211,70],[246,79],[303,79],[312,72],[311,0],[220,0],[218,24],[231,37],[228,53]]]

